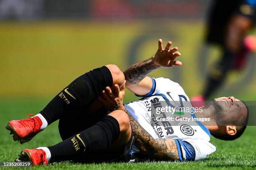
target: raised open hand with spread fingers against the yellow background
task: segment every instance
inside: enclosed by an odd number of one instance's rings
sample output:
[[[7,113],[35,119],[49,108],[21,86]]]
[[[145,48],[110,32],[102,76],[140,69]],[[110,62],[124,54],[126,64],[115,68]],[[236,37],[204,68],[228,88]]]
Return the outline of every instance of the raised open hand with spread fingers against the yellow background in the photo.
[[[181,54],[178,52],[178,47],[170,48],[172,45],[171,41],[167,42],[165,48],[163,48],[162,39],[158,40],[158,50],[154,55],[154,64],[162,68],[169,68],[174,65],[182,65],[182,62],[175,60]]]

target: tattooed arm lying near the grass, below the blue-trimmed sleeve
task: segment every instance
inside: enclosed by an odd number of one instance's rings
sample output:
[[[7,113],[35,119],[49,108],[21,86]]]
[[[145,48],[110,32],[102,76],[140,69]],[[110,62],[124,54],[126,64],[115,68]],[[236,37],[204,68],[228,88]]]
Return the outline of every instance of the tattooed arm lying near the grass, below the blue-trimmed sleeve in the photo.
[[[135,145],[143,155],[156,160],[179,160],[177,145],[172,139],[154,139],[140,124],[124,110],[129,118],[135,136]]]

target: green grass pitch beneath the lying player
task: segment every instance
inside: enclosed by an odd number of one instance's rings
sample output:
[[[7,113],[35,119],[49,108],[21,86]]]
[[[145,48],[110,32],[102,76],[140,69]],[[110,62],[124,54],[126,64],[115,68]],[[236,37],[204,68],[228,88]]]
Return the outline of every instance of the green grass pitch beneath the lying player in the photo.
[[[0,101],[0,161],[14,161],[18,153],[24,148],[37,148],[54,145],[61,141],[58,133],[58,122],[54,122],[30,142],[20,145],[14,142],[5,130],[9,120],[25,118],[28,113],[36,113],[46,105],[48,100],[1,100]],[[74,115],[75,116],[75,115]],[[235,141],[225,142],[211,137],[217,151],[206,160],[196,162],[151,162],[151,163],[110,163],[110,164],[79,164],[60,162],[52,165],[32,167],[32,169],[256,169],[256,155],[254,138],[255,127],[248,127],[245,134]],[[13,169],[13,168],[12,168]]]

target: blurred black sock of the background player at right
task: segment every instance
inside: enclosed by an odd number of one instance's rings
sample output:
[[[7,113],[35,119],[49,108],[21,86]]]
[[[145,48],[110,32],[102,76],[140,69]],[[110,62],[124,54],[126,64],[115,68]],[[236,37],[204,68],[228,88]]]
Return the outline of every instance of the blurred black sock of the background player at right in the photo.
[[[215,66],[214,70],[207,76],[207,84],[203,96],[208,99],[223,84],[228,72],[233,67],[235,53],[225,50],[220,62]]]

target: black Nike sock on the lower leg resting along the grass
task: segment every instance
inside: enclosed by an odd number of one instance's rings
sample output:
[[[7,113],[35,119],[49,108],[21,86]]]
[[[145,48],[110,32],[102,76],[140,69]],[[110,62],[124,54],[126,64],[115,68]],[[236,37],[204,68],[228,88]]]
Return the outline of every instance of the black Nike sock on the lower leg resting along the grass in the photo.
[[[51,162],[79,160],[83,155],[104,150],[118,139],[119,133],[118,121],[107,115],[92,127],[48,147],[51,152]]]

